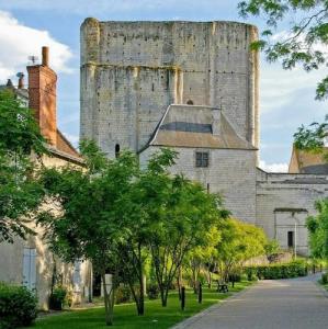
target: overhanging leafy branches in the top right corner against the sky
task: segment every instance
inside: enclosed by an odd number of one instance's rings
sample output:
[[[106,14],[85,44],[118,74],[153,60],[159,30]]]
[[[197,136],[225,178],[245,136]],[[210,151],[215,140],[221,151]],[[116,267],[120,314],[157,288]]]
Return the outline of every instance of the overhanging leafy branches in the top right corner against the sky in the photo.
[[[306,71],[316,70],[327,64],[328,2],[327,0],[248,0],[238,4],[242,18],[264,18],[267,29],[262,38],[252,44],[262,49],[269,61],[282,59],[284,69],[302,65]],[[271,36],[278,25],[289,25],[289,32],[275,41]],[[328,97],[328,76],[316,89],[316,99]]]

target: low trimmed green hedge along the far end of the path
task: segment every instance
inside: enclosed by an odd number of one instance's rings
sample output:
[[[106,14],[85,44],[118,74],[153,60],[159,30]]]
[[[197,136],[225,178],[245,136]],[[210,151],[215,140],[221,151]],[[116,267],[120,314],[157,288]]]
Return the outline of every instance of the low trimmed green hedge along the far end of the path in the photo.
[[[263,266],[248,266],[245,269],[248,280],[257,276],[259,280],[290,279],[307,275],[307,265],[303,261],[293,261],[282,264],[269,264]]]

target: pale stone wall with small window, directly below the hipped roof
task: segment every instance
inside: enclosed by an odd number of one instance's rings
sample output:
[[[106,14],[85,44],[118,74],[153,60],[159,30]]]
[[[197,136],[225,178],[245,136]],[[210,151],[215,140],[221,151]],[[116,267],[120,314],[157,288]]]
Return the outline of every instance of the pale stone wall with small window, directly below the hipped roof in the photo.
[[[159,147],[150,146],[140,154],[146,166]],[[256,151],[242,149],[174,148],[179,154],[172,173],[183,173],[193,181],[207,184],[211,193],[219,193],[234,217],[256,224]],[[210,152],[208,168],[195,167],[195,151]]]

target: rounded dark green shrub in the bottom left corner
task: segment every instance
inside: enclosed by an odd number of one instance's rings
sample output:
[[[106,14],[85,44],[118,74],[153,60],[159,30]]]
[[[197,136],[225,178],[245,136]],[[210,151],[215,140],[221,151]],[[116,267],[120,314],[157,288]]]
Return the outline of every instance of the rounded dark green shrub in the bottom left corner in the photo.
[[[24,286],[0,282],[0,328],[27,327],[36,318],[37,298]]]

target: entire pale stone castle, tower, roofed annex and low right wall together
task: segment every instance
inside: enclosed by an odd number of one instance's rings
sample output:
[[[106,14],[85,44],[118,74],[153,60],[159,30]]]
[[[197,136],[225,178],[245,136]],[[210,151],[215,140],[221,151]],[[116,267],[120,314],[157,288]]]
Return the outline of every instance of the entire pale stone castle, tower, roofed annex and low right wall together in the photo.
[[[99,22],[81,26],[81,138],[145,163],[179,152],[172,172],[224,196],[233,215],[307,253],[305,218],[326,177],[267,173],[259,148],[255,26],[235,22]],[[196,157],[205,154],[206,166]],[[291,243],[293,242],[293,246]]]

